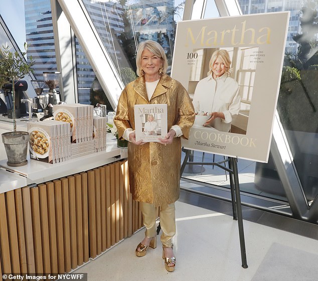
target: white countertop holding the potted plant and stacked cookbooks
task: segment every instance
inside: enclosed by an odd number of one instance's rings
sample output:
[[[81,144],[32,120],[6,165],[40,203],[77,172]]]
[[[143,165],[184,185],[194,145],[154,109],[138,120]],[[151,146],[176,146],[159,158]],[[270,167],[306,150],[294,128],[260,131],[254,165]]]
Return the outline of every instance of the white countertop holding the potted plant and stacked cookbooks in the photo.
[[[18,121],[17,124],[18,123],[19,129],[26,130],[23,129],[23,125],[25,124],[24,121]],[[12,124],[12,122],[3,121],[0,118],[0,132],[3,132],[1,129],[12,130],[9,127],[8,129],[6,128],[9,125],[12,126]],[[115,136],[107,133],[106,143],[107,149],[105,151],[92,153],[56,164],[49,164],[30,159],[28,153],[28,164],[19,167],[7,165],[7,155],[4,150],[4,145],[1,143],[3,149],[0,150],[0,193],[23,187],[28,184],[38,184],[79,173],[127,157],[127,149],[117,147]]]

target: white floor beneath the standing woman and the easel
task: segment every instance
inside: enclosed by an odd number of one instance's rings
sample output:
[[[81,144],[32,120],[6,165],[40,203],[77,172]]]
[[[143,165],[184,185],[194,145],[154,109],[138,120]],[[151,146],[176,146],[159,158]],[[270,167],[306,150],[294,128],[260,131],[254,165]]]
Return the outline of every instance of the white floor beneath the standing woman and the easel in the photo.
[[[195,200],[202,201],[201,197]],[[248,268],[244,269],[241,266],[237,221],[231,215],[210,210],[210,207],[198,207],[186,203],[185,199],[181,200],[176,202],[174,250],[177,267],[174,272],[168,272],[164,267],[160,237],[156,249],[149,248],[144,257],[135,256],[134,249],[143,238],[143,230],[122,240],[76,272],[87,272],[89,281],[317,280],[318,238],[315,233],[318,233],[318,225],[311,225],[315,238],[309,238],[306,237],[308,235],[302,236],[244,219],[248,263]],[[222,204],[228,203],[220,201]],[[252,212],[252,209],[244,210],[243,218],[250,217]],[[280,217],[275,215],[272,219],[271,214],[264,213],[257,220],[274,224],[275,220],[281,220]],[[294,228],[303,228],[297,221],[288,225],[293,223]],[[304,225],[304,222],[300,223]],[[284,224],[285,221],[277,222],[277,225]]]

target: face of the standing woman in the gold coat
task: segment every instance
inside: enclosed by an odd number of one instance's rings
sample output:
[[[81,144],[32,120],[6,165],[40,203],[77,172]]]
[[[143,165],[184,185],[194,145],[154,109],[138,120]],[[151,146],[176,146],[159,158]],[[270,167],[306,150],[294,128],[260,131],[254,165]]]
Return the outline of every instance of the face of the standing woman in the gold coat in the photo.
[[[140,66],[144,71],[145,78],[151,77],[158,79],[160,77],[158,70],[161,67],[161,58],[148,49],[144,49],[141,53]]]

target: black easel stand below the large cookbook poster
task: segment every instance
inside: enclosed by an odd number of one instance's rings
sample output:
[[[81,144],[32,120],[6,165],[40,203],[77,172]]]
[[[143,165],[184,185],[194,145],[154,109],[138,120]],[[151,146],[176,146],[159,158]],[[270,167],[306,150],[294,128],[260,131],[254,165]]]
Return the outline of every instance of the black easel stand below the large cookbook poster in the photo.
[[[232,198],[232,209],[233,209],[233,219],[237,220],[238,228],[239,228],[239,238],[240,238],[240,246],[241,246],[241,260],[242,260],[242,267],[247,268],[247,260],[246,260],[246,249],[245,249],[245,239],[244,239],[244,229],[243,229],[243,218],[242,218],[242,205],[241,205],[241,194],[240,194],[240,187],[239,187],[239,178],[238,178],[238,170],[237,170],[237,158],[235,157],[228,157],[227,159],[221,162],[193,162],[188,161],[191,155],[190,149],[184,149],[186,152],[185,158],[181,165],[181,172],[182,175],[185,166],[189,165],[216,165],[221,169],[224,169],[229,172],[230,174],[230,185],[231,185],[231,198]],[[229,167],[227,168],[222,163],[228,161]]]

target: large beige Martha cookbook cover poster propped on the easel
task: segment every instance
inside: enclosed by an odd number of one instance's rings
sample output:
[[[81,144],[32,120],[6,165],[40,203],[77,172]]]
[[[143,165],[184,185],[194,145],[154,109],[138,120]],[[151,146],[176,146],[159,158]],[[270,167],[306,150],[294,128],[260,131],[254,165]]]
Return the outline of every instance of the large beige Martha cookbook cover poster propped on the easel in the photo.
[[[185,148],[267,162],[289,12],[178,22],[172,77],[193,98]]]

